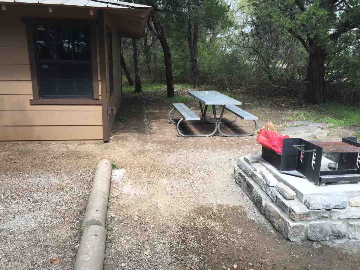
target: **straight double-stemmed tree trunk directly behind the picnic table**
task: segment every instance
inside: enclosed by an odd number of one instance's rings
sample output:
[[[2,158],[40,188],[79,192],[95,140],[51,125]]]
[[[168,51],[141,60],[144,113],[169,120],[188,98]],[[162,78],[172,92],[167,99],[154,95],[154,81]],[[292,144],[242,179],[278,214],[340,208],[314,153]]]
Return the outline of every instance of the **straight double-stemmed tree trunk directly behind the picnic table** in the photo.
[[[188,42],[194,88],[196,89],[198,87],[198,23],[193,25],[190,18],[188,18]]]

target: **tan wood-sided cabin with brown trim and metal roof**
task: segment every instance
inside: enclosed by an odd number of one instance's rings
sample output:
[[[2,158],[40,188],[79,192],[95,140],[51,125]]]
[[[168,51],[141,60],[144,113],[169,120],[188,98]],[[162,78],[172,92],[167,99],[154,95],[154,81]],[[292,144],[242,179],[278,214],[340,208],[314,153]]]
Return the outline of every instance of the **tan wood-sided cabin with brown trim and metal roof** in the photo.
[[[121,103],[121,37],[150,6],[0,0],[0,141],[109,140]]]

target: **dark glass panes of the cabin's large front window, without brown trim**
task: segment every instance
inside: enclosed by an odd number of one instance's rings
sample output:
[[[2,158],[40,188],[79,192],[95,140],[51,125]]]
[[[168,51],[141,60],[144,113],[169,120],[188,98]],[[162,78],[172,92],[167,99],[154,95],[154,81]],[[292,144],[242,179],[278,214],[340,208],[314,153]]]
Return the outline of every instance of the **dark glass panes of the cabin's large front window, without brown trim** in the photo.
[[[93,98],[90,27],[35,26],[40,98]]]

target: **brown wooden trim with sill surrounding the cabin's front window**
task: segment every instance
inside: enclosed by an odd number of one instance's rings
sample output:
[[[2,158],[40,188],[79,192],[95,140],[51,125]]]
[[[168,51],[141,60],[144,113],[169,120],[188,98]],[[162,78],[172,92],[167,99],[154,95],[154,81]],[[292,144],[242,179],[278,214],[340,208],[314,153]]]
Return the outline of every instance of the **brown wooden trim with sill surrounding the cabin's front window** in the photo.
[[[101,105],[99,95],[99,75],[98,75],[98,54],[96,44],[96,20],[84,20],[84,19],[37,19],[37,18],[22,18],[22,22],[26,23],[27,37],[28,37],[28,49],[30,60],[30,71],[32,81],[33,99],[30,99],[30,104],[33,105]],[[35,47],[35,26],[39,24],[52,24],[52,25],[64,25],[64,26],[88,26],[90,28],[90,66],[91,66],[91,78],[92,80],[92,96],[66,96],[62,98],[57,97],[41,97],[39,89],[39,72],[37,70],[37,55]],[[88,62],[89,63],[89,62]]]

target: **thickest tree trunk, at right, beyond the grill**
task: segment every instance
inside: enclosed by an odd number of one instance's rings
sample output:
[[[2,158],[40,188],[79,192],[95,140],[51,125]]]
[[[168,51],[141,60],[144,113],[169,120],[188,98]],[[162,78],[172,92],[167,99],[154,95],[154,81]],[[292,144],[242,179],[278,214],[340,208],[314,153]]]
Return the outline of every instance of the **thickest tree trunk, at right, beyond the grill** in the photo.
[[[325,57],[323,50],[313,50],[309,54],[309,64],[307,66],[307,86],[306,99],[310,103],[321,104],[324,102],[325,88]]]

